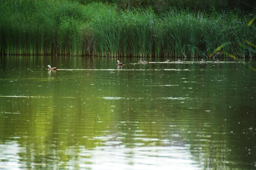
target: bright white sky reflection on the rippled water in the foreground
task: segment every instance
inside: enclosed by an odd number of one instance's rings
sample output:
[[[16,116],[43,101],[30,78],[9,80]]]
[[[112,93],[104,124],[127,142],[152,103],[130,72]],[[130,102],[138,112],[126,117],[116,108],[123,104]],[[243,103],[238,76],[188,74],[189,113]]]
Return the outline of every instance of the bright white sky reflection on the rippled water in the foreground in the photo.
[[[103,137],[102,137],[103,138]],[[27,169],[26,160],[20,160],[19,153],[26,154],[25,148],[19,147],[16,141],[0,145],[3,169]],[[36,152],[36,151],[35,151]],[[60,151],[59,154],[61,154]],[[106,146],[97,146],[88,150],[84,146],[70,146],[65,150],[68,159],[61,161],[57,155],[39,155],[45,162],[34,162],[32,169],[95,169],[95,170],[200,170],[192,160],[188,147],[158,146],[127,148],[118,142],[108,142]],[[57,164],[56,164],[57,163]]]

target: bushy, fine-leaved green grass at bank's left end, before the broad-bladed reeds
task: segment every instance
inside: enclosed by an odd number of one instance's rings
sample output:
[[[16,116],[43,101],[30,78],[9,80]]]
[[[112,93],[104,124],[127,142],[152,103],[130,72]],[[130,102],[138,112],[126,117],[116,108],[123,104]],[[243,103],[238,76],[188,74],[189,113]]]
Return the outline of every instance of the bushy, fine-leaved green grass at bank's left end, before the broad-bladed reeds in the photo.
[[[0,2],[1,53],[82,54],[86,21],[82,10],[65,0]]]

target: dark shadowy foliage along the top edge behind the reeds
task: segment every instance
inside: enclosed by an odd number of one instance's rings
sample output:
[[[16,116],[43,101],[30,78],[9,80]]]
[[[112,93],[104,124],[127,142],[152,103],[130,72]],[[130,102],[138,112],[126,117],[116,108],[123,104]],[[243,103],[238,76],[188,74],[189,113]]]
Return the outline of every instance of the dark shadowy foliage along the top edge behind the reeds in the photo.
[[[122,9],[128,8],[153,8],[155,13],[165,13],[170,8],[210,11],[212,8],[218,11],[233,10],[253,12],[256,2],[253,0],[72,0],[82,4],[93,2],[113,3]]]

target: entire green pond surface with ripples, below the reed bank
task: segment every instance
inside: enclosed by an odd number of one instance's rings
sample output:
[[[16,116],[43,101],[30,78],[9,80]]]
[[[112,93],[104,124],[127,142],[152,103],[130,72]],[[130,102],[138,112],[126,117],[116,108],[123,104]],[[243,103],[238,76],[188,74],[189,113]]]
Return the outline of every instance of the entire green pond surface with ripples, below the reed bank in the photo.
[[[139,59],[1,57],[0,169],[256,168],[256,60]]]

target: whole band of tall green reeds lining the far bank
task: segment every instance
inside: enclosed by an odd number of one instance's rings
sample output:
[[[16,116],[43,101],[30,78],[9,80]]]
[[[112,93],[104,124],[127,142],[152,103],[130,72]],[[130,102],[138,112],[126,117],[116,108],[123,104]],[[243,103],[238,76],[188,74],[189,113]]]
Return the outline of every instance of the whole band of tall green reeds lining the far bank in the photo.
[[[187,4],[191,3],[189,8],[185,8],[184,0],[175,7],[171,4],[175,0],[163,0],[164,6],[158,4],[162,8],[157,10],[156,2],[160,1],[152,1],[152,5],[150,0],[144,1],[147,4],[135,2],[3,0],[0,53],[114,57],[255,55],[256,24],[248,23],[255,17],[249,14],[256,10],[244,12],[249,9],[247,1],[235,10],[224,10],[225,5],[223,10],[216,10],[211,3],[203,10],[200,0],[194,3],[197,5],[187,0]],[[216,51],[218,47],[221,49]]]

